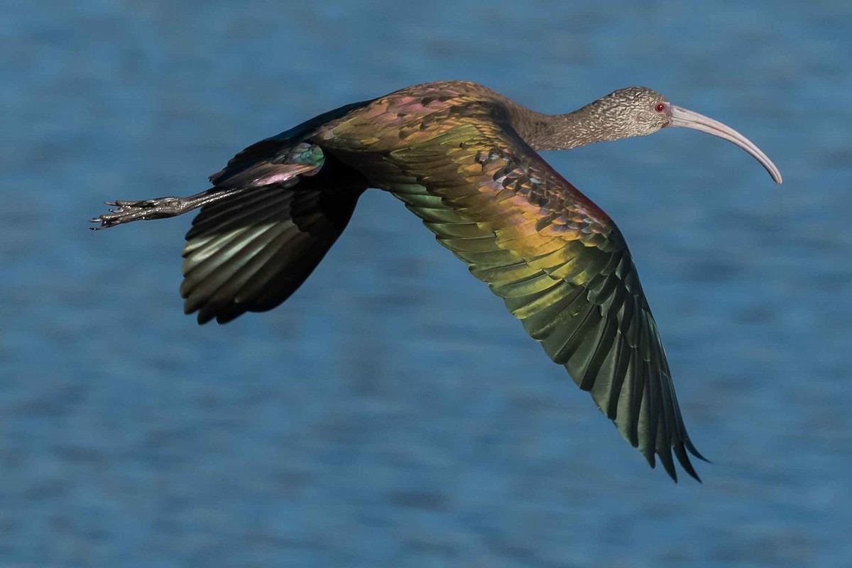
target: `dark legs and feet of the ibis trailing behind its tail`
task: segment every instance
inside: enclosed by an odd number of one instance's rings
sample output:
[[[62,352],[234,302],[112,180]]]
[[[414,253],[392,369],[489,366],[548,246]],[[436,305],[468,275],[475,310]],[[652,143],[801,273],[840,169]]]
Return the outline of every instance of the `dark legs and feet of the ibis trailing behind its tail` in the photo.
[[[205,192],[190,195],[187,198],[155,198],[142,199],[141,201],[125,201],[124,199],[116,199],[115,201],[107,201],[107,205],[115,207],[110,209],[109,213],[99,215],[94,219],[89,220],[91,223],[101,223],[101,227],[89,227],[93,231],[99,229],[108,229],[122,223],[130,223],[130,221],[147,221],[148,219],[164,219],[166,217],[176,217],[183,215],[187,211],[198,209],[203,205],[208,205],[219,201],[222,198],[232,196],[234,193],[239,193],[240,188],[232,189],[208,189]]]

